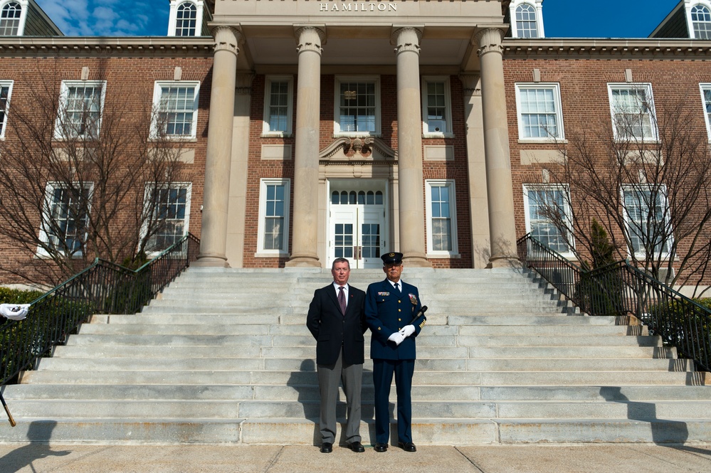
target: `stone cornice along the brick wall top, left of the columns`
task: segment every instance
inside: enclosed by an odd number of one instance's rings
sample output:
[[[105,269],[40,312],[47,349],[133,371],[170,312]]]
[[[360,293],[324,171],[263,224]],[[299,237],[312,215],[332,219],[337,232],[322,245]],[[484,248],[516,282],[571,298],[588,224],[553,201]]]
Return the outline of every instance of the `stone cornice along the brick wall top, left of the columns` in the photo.
[[[14,55],[48,56],[155,56],[179,55],[181,57],[212,56],[215,40],[201,38],[156,37],[13,37],[0,38],[0,57]]]

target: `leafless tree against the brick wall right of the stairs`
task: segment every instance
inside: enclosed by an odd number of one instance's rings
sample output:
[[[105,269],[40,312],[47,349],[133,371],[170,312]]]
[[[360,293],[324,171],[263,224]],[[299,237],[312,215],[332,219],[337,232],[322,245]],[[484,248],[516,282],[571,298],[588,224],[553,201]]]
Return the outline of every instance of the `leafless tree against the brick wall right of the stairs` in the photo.
[[[594,220],[628,258],[668,285],[706,289],[711,261],[711,166],[706,130],[683,100],[655,110],[632,90],[613,107],[609,132],[576,130],[557,142],[560,159],[544,164],[536,197],[556,238],[590,267]],[[569,191],[561,192],[560,185]]]

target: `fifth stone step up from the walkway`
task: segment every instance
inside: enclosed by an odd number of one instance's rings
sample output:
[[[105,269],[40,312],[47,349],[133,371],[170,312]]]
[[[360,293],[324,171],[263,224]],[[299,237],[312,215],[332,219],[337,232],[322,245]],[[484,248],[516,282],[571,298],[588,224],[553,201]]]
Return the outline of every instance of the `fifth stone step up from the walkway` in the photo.
[[[314,360],[297,358],[179,358],[176,356],[161,358],[160,368],[164,370],[233,370],[264,371],[305,371],[315,372]],[[54,356],[42,358],[36,371],[28,371],[33,376],[41,371],[140,371],[150,369],[143,359],[135,358],[72,358]],[[372,371],[373,362],[366,359],[364,370]],[[653,371],[662,372],[693,371],[693,362],[685,359],[653,358],[438,358],[415,361],[416,372],[420,371]],[[25,379],[25,378],[23,378]]]

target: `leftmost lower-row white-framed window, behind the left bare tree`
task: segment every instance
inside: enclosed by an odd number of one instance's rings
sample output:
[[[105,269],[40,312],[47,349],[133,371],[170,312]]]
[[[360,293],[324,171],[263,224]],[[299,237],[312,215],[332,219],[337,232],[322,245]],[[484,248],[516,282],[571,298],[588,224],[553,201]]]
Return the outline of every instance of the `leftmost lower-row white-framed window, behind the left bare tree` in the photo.
[[[49,250],[75,257],[82,255],[93,186],[92,182],[85,182],[83,186],[47,183],[39,232],[43,245],[37,248],[39,256],[48,256]]]

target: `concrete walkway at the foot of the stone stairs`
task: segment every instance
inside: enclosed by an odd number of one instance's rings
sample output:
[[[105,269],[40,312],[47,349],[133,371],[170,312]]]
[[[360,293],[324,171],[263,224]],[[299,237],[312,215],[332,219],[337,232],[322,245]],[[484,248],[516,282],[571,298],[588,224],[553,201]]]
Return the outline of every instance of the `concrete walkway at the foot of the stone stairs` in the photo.
[[[707,445],[523,445],[391,447],[354,453],[337,447],[220,445],[0,445],[2,473],[707,473]]]

